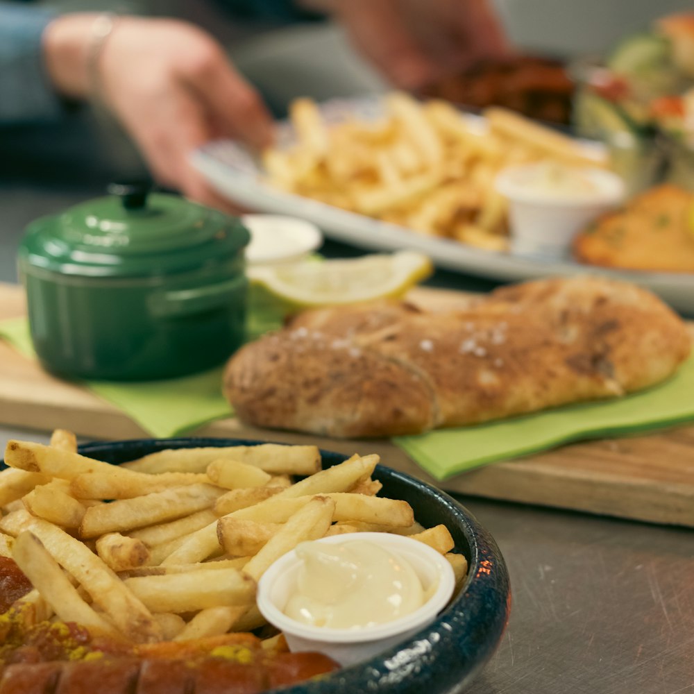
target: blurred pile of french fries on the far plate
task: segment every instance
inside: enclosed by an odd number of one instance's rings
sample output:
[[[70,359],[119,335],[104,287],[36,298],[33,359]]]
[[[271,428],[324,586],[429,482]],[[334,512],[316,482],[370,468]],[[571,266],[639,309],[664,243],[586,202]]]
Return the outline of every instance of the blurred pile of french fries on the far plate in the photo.
[[[494,188],[505,167],[606,161],[555,130],[500,108],[480,120],[450,103],[395,92],[375,121],[325,122],[310,99],[291,105],[296,142],[264,152],[271,185],[426,235],[503,251],[507,203]]]

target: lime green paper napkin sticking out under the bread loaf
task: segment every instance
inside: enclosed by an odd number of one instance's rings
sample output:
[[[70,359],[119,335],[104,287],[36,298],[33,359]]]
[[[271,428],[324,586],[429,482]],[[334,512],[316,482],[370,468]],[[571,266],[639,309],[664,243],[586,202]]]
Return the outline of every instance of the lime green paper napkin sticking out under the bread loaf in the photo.
[[[437,480],[581,439],[627,436],[694,421],[694,356],[663,382],[618,400],[570,405],[393,442]]]

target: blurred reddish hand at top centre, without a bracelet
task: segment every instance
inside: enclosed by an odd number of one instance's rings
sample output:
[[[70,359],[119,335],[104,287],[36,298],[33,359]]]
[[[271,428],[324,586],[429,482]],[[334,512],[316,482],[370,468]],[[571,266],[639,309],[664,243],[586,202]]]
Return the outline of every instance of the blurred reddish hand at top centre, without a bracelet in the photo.
[[[509,52],[489,0],[302,0],[331,12],[357,49],[412,89]]]

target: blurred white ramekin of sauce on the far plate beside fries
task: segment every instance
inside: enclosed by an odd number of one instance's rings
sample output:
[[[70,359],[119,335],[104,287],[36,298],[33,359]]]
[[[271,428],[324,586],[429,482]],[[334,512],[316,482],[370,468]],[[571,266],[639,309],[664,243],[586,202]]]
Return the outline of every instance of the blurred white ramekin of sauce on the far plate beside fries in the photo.
[[[577,232],[625,196],[611,171],[556,162],[503,169],[496,189],[509,201],[511,253],[550,261],[568,259]]]

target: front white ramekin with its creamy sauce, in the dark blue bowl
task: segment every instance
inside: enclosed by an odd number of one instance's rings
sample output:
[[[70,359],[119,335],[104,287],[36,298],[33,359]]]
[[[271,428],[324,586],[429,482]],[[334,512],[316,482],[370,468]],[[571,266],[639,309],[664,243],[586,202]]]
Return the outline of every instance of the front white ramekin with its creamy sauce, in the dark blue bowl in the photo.
[[[430,624],[455,588],[448,560],[403,535],[360,532],[301,543],[258,584],[257,605],[292,651],[351,665]]]

